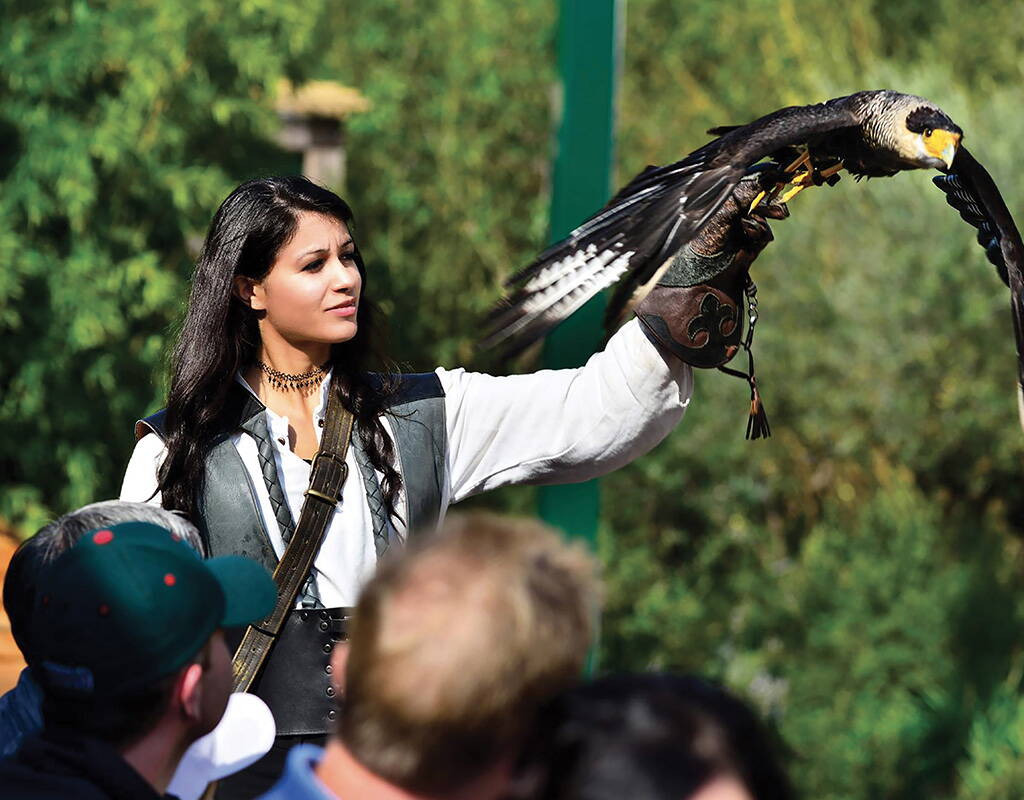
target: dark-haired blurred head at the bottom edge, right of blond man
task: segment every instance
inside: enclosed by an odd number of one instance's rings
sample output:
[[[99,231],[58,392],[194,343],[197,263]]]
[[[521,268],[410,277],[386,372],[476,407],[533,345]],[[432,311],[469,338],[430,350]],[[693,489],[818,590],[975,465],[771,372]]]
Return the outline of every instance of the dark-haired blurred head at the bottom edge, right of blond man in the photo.
[[[508,800],[792,800],[751,709],[695,677],[614,675],[538,715]]]

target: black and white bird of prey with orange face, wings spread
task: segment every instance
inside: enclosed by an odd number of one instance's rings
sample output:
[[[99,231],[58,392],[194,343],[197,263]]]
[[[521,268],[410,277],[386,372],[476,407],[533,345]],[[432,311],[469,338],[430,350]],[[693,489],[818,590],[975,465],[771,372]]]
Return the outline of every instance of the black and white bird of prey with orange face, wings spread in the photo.
[[[998,190],[962,146],[963,131],[935,103],[888,89],[780,109],[741,126],[715,128],[686,158],[647,167],[567,238],[507,282],[483,347],[512,355],[617,283],[607,319],[656,282],[744,176],[765,192],[752,204],[790,200],[811,185],[908,169],[938,169],[946,199],[978,228],[978,241],[1011,288],[1019,377],[1024,383],[1024,245]]]

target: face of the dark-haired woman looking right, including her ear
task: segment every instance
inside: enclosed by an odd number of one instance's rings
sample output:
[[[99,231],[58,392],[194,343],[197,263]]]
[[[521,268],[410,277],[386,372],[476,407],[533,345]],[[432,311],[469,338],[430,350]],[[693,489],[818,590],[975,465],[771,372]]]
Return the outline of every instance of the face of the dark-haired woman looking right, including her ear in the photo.
[[[262,281],[237,278],[239,294],[260,321],[293,344],[334,344],[355,336],[362,279],[348,226],[334,217],[302,212],[295,236]]]

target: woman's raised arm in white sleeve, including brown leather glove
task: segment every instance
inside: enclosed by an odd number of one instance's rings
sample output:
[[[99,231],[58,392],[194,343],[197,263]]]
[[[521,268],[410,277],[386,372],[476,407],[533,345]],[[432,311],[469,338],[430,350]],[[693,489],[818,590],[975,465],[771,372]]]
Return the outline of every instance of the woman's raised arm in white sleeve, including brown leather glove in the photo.
[[[772,239],[766,217],[787,214],[782,205],[748,214],[759,190],[756,177],[740,181],[666,264],[637,308],[639,323],[624,326],[586,366],[505,378],[437,371],[446,392],[452,502],[513,483],[596,477],[668,435],[690,401],[690,366],[718,366],[735,353],[746,269]],[[728,308],[731,328],[723,325]]]

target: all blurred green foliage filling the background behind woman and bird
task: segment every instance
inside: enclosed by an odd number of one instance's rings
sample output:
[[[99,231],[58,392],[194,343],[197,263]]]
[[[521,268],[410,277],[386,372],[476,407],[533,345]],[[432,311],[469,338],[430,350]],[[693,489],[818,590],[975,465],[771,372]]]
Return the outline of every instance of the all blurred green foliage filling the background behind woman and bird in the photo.
[[[414,369],[468,365],[546,238],[552,0],[34,2],[0,10],[0,518],[116,494],[160,405],[189,246],[266,142],[281,77],[357,87],[346,196]],[[888,86],[939,102],[1024,219],[1024,8],[630,0],[617,181],[718,124]],[[697,376],[604,481],[605,669],[751,699],[815,798],[1024,781],[1022,452],[1008,294],[930,175],[809,192],[755,268],[768,441]],[[194,244],[191,245],[194,247]],[[528,365],[526,365],[528,366]],[[528,508],[528,491],[478,503]]]

